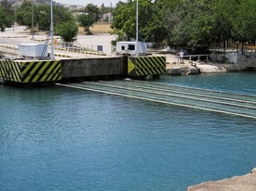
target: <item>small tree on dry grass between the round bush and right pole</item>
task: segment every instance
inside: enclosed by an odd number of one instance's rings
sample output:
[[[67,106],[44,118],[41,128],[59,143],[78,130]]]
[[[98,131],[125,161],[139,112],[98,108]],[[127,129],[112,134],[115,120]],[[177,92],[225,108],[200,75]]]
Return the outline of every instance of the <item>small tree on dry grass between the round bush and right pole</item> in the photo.
[[[80,26],[85,28],[86,32],[89,32],[89,27],[99,19],[99,8],[92,4],[88,4],[85,7],[82,15],[78,16]]]

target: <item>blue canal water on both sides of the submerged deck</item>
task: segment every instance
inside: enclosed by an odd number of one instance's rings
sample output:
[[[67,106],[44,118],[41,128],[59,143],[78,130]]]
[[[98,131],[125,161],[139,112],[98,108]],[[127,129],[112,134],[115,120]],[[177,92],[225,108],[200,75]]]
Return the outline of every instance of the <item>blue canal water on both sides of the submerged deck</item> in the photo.
[[[255,73],[162,76],[256,96]],[[0,190],[183,191],[256,167],[256,121],[54,86],[0,85]]]

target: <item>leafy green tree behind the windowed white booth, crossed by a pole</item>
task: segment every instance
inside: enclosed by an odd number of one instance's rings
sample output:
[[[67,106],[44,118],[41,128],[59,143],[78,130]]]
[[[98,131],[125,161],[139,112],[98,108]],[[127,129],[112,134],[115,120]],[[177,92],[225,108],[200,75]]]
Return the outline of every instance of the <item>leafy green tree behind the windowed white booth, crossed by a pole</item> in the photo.
[[[140,40],[161,42],[167,35],[165,6],[159,1],[141,0],[139,4]],[[112,28],[126,32],[128,39],[136,36],[136,1],[119,2],[113,12]]]

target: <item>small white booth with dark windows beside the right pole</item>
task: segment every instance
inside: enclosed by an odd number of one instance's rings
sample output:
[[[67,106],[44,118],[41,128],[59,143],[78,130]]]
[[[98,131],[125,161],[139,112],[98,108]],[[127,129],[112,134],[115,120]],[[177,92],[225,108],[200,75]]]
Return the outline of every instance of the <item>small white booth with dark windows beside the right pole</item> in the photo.
[[[130,55],[139,56],[147,55],[147,45],[144,42],[117,42],[116,43],[116,55]]]

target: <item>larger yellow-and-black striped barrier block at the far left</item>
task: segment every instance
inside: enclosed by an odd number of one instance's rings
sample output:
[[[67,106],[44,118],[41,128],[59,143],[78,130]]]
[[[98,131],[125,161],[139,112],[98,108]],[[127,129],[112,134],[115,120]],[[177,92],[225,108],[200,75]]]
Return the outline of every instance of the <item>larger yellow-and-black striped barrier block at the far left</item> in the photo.
[[[60,60],[0,60],[0,73],[5,82],[46,83],[61,80]]]

